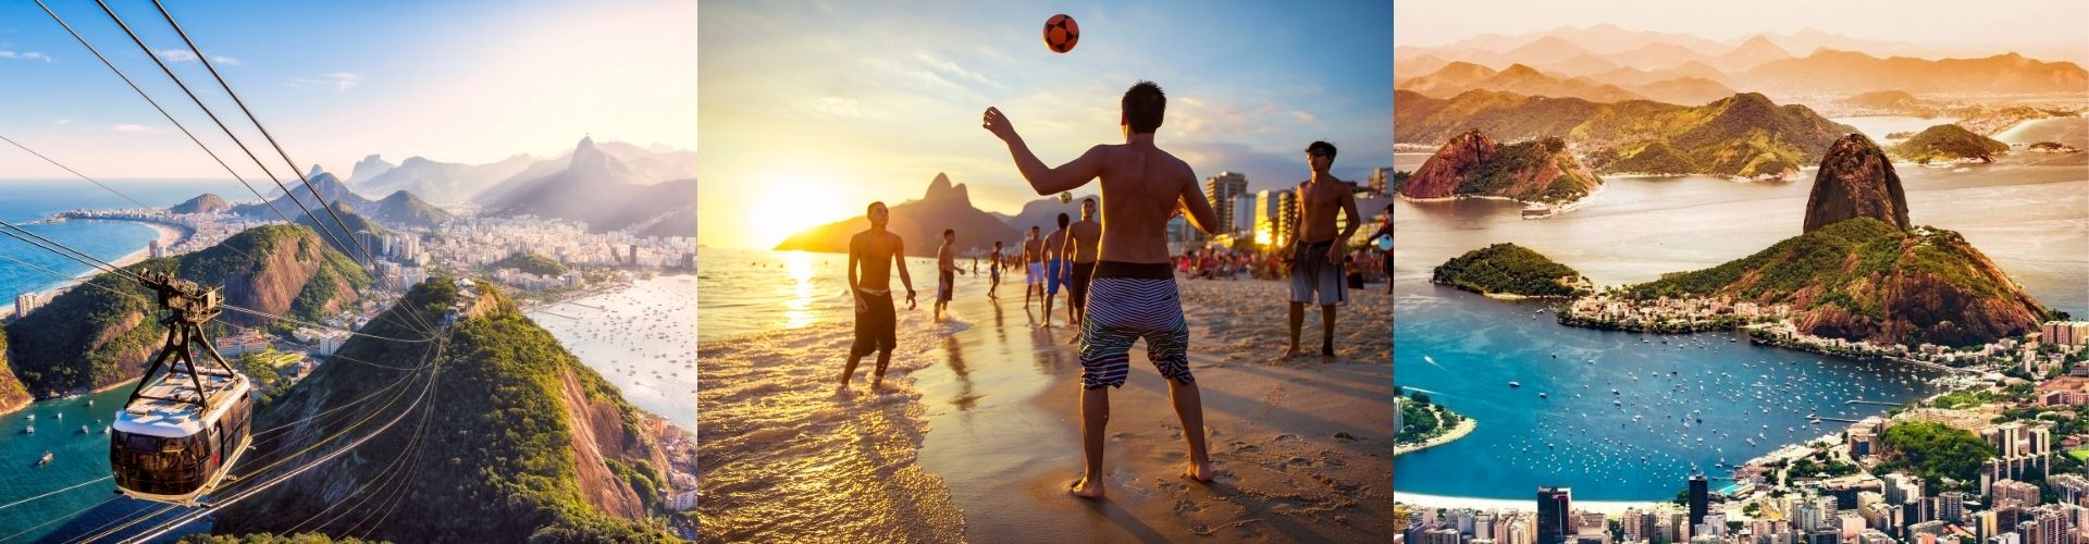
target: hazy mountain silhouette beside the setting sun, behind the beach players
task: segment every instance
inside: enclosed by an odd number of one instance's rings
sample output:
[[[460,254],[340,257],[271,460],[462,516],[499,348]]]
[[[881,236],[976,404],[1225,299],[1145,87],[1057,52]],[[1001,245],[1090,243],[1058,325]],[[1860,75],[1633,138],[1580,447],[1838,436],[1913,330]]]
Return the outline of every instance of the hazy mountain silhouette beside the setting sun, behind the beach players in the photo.
[[[923,192],[919,201],[886,205],[892,209],[892,220],[886,224],[886,230],[900,234],[900,241],[907,243],[907,255],[936,255],[936,247],[942,245],[944,228],[957,230],[957,247],[961,251],[992,249],[994,241],[1007,241],[1009,245],[1022,243],[1022,234],[1015,232],[1015,228],[1009,228],[994,216],[971,207],[971,197],[965,192],[965,184],[950,184],[950,176],[944,174],[936,174],[936,180],[928,184],[928,192]],[[848,239],[869,228],[869,224],[871,222],[859,213],[848,220],[800,230],[775,249],[848,253]]]

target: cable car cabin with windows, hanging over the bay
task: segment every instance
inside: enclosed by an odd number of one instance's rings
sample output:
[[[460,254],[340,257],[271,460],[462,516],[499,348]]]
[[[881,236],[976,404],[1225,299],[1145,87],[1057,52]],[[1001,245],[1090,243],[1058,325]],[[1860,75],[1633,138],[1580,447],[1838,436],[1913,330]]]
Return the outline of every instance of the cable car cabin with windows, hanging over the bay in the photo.
[[[117,490],[157,502],[196,504],[249,446],[253,385],[238,372],[203,372],[209,410],[188,372],[167,372],[117,412],[109,464]]]

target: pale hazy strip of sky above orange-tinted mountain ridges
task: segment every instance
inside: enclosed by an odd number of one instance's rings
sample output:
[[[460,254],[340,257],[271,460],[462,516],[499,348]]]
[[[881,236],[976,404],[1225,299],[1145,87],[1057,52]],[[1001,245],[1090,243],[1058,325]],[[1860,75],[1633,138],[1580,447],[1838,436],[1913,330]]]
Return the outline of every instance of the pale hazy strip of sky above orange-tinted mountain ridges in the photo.
[[[1402,46],[1441,46],[1475,33],[1517,36],[1556,27],[1613,23],[1627,29],[1738,40],[1805,27],[1861,40],[1978,48],[2089,48],[2089,2],[2024,0],[1761,0],[1761,2],[1395,2]],[[1805,52],[1794,52],[1805,54]],[[2076,56],[2079,59],[2079,56]]]

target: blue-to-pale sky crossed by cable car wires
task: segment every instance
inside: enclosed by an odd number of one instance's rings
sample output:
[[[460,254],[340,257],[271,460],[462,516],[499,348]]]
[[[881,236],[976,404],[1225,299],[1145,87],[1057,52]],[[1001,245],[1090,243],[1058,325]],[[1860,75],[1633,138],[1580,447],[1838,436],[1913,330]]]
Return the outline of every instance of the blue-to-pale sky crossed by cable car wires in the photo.
[[[92,2],[46,2],[228,157],[259,167]],[[299,169],[372,153],[491,163],[583,136],[696,149],[696,2],[182,2],[167,10]],[[123,23],[251,144],[259,132],[150,2]],[[230,176],[33,2],[0,2],[0,136],[94,178]],[[274,151],[257,149],[290,176]],[[67,178],[0,146],[0,182]],[[236,184],[234,184],[236,188]],[[232,192],[226,192],[232,195]]]

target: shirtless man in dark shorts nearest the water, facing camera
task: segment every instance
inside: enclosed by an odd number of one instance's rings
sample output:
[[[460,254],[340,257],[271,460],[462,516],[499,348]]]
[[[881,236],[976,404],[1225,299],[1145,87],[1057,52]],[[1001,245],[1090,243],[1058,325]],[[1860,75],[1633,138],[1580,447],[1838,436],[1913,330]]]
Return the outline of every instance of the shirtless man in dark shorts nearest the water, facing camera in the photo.
[[[856,297],[856,343],[848,347],[848,368],[842,368],[842,389],[856,375],[856,362],[877,352],[877,372],[871,389],[884,387],[886,364],[892,362],[892,347],[898,345],[892,312],[892,268],[900,268],[900,285],[907,287],[907,310],[915,308],[913,276],[907,276],[907,247],[900,234],[886,232],[892,211],[886,203],[871,203],[865,213],[871,228],[848,239],[848,293]],[[861,270],[859,270],[861,268]]]

